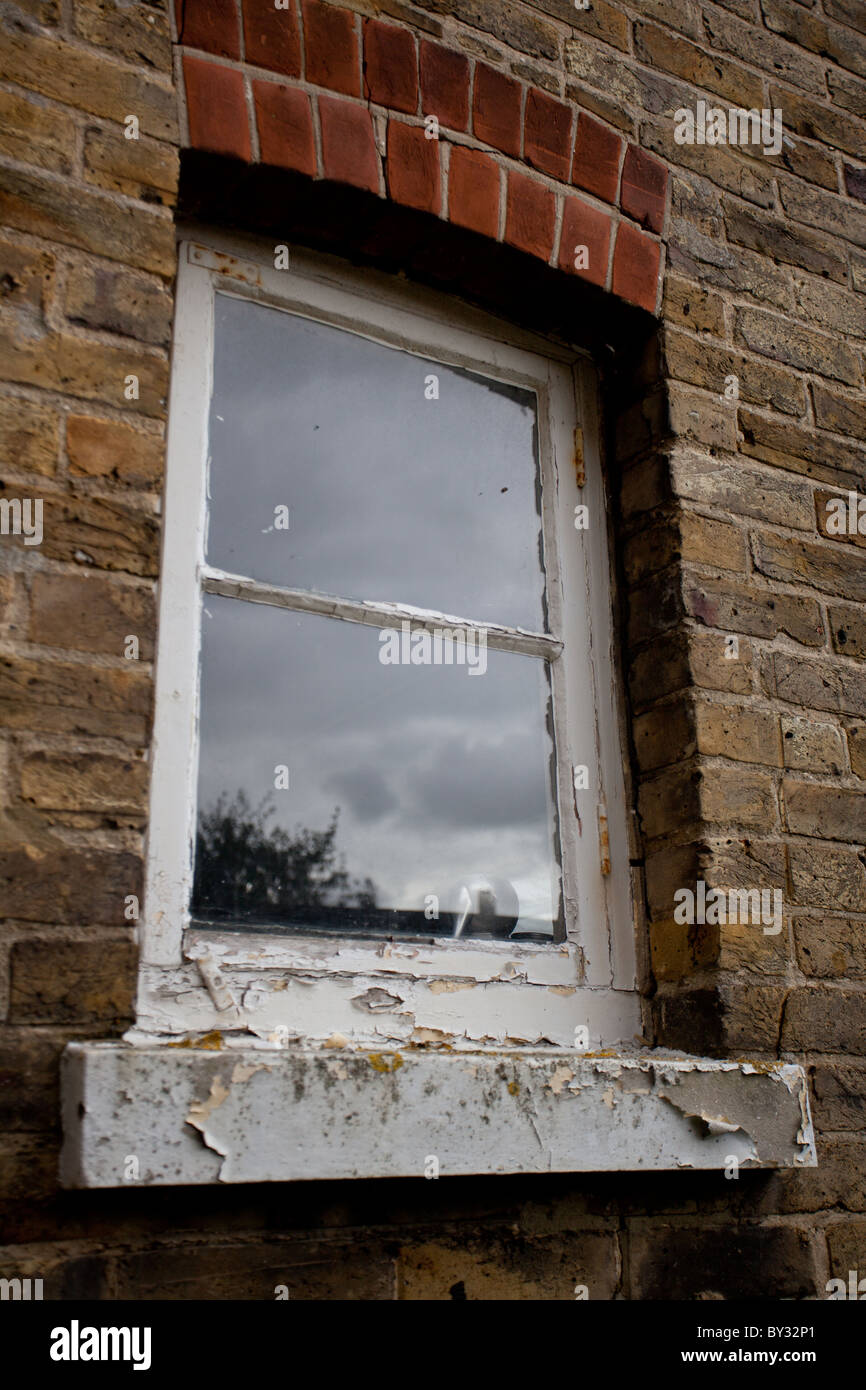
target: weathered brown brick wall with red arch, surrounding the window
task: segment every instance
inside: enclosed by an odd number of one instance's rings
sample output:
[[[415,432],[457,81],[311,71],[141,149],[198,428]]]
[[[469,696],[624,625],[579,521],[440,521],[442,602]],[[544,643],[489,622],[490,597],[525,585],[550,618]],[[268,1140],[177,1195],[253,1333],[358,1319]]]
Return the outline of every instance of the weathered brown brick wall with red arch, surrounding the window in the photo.
[[[698,100],[778,108],[788,142],[678,145]],[[21,0],[0,128],[3,496],[44,505],[39,546],[0,538],[0,1273],[796,1298],[866,1269],[866,539],[826,507],[866,493],[862,0]],[[238,190],[267,189],[288,234],[439,281],[460,235],[498,277],[452,267],[466,292],[502,302],[507,267],[520,317],[548,296],[617,349],[649,1040],[805,1061],[817,1170],[58,1191],[60,1049],[132,1011],[178,168],[185,210],[253,225]],[[781,890],[783,931],[678,924],[696,878]]]

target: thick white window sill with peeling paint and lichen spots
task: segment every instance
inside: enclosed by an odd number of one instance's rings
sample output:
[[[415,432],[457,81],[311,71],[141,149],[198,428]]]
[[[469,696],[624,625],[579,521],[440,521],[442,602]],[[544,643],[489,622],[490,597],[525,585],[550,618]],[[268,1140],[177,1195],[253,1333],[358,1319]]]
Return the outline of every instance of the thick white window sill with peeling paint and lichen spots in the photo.
[[[65,1187],[816,1166],[802,1068],[673,1052],[71,1042],[63,1109]]]

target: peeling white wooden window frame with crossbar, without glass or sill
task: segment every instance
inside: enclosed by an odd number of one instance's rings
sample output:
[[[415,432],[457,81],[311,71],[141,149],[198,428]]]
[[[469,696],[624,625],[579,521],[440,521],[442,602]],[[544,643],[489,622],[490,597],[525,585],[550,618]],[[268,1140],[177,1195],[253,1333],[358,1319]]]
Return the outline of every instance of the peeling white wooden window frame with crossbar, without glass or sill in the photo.
[[[202,234],[199,234],[202,235]],[[549,649],[566,940],[322,938],[189,926],[197,784],[200,591],[279,602],[204,564],[214,296],[221,291],[524,386],[538,396],[550,635],[489,627],[488,645]],[[128,1041],[220,1030],[227,1045],[448,1041],[598,1049],[641,1031],[632,870],[613,660],[598,385],[580,352],[460,302],[292,250],[207,232],[181,243],[168,413],[156,712],[136,1027]],[[577,530],[575,507],[589,509]],[[310,598],[309,605],[322,610]],[[329,610],[335,605],[324,606]],[[398,605],[339,603],[350,620],[417,621]],[[431,614],[431,620],[435,616]],[[431,624],[428,624],[431,626]],[[448,626],[453,626],[449,619]],[[564,645],[563,645],[564,644]],[[574,767],[588,769],[575,790]],[[359,998],[386,991],[393,1008]],[[578,1033],[584,1030],[585,1034]]]

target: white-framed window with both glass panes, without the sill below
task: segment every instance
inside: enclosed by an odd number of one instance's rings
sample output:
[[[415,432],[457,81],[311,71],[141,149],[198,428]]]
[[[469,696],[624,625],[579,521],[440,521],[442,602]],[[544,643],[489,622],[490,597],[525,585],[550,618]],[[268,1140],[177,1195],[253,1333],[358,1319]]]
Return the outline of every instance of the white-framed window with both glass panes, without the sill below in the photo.
[[[181,256],[139,1029],[630,1040],[591,364],[236,252]]]

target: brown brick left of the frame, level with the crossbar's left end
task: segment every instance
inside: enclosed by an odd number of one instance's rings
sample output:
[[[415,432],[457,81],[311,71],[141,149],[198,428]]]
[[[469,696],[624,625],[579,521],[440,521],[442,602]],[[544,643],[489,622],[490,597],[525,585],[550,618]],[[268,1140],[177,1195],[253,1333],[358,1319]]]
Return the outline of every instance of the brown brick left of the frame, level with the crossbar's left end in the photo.
[[[139,659],[153,659],[156,605],[150,589],[99,574],[35,574],[28,637],[46,646],[122,656],[138,637]],[[133,701],[146,710],[143,695]]]

